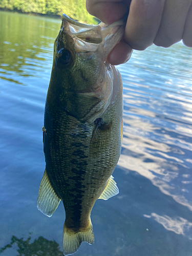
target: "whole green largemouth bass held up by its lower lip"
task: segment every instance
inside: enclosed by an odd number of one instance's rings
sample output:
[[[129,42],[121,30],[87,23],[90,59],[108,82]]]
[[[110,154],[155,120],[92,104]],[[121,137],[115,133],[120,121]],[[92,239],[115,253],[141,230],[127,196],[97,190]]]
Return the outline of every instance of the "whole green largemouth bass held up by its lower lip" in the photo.
[[[51,217],[62,200],[64,255],[94,243],[92,208],[119,193],[112,174],[121,153],[122,80],[107,58],[123,31],[122,20],[94,26],[63,14],[54,42],[37,208]]]

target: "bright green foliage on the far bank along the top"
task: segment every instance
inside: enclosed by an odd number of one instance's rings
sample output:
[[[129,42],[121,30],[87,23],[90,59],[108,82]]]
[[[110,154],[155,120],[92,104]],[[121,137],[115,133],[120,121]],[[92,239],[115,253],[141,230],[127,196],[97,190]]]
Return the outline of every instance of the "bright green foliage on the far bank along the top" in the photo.
[[[97,24],[86,10],[86,0],[0,0],[0,8],[23,13],[58,15],[66,13],[83,23]]]

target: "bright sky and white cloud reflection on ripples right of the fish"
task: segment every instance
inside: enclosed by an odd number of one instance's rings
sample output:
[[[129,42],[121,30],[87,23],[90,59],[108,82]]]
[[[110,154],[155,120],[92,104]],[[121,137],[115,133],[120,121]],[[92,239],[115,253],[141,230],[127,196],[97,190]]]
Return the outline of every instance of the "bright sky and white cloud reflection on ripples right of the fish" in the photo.
[[[172,50],[153,46],[152,53],[153,58],[147,51],[142,54],[144,65],[138,66],[136,53],[132,63],[120,67],[125,125],[119,165],[147,177],[162,193],[192,210],[191,189],[182,185],[187,184],[183,177],[191,175],[191,49],[179,43]],[[134,79],[126,73],[130,65],[135,67]],[[141,68],[150,74],[147,81],[146,74],[136,76]]]

